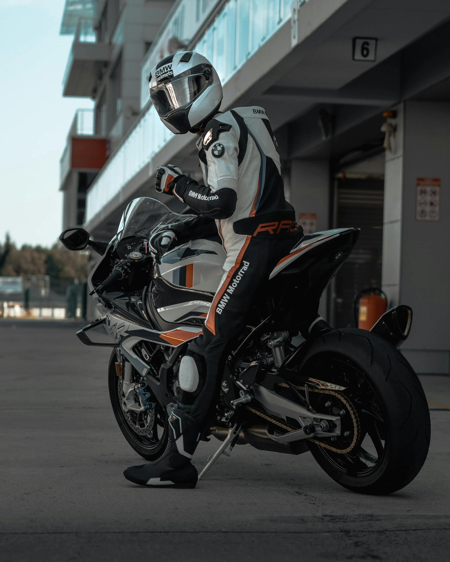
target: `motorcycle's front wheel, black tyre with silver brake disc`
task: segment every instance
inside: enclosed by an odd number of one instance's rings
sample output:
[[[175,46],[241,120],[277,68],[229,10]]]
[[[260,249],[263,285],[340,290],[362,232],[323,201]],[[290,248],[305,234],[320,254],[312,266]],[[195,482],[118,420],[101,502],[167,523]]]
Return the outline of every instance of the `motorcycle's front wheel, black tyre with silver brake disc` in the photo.
[[[149,461],[159,459],[169,439],[167,411],[158,402],[152,410],[125,411],[122,407],[124,398],[122,378],[116,374],[115,362],[116,352],[113,351],[109,361],[108,388],[111,406],[120,431],[129,445],[144,459]],[[136,376],[134,368],[133,376]],[[136,382],[138,382],[137,377]]]

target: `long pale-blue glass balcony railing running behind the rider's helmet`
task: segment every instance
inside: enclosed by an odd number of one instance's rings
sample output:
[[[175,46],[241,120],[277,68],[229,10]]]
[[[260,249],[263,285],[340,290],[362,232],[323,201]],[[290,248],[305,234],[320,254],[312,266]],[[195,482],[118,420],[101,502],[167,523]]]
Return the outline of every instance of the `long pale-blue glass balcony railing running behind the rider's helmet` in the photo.
[[[290,19],[291,4],[292,0],[229,0],[193,50],[212,62],[225,84]],[[86,222],[172,137],[150,106],[89,188]]]

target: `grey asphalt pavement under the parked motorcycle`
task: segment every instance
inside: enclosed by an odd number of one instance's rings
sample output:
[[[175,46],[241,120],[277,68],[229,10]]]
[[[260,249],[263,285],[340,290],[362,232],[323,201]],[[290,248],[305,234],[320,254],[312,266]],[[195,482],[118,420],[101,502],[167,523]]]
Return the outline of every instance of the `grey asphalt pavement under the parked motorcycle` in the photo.
[[[2,562],[449,560],[450,377],[421,377],[430,453],[390,496],[345,490],[309,452],[250,445],[195,490],[154,490],[123,477],[143,461],[111,410],[110,350],[84,346],[76,329],[0,320]],[[200,443],[199,472],[218,445]]]

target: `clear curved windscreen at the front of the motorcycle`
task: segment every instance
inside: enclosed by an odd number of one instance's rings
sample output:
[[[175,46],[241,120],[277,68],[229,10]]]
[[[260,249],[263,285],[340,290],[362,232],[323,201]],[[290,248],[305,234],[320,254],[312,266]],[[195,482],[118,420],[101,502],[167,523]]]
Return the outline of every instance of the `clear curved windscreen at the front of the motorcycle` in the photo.
[[[164,203],[151,197],[138,197],[125,207],[120,219],[119,228],[114,239],[114,246],[124,240],[146,238],[152,234],[169,228],[174,223],[194,219],[195,215],[180,215],[171,211]]]

